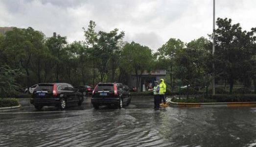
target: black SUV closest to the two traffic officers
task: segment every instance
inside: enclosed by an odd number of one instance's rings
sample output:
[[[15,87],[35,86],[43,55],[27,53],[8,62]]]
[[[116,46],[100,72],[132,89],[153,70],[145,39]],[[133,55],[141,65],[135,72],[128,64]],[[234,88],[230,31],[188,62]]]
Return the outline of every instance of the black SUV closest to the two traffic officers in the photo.
[[[99,83],[93,90],[92,104],[95,109],[100,105],[122,108],[130,102],[129,88],[122,83]]]

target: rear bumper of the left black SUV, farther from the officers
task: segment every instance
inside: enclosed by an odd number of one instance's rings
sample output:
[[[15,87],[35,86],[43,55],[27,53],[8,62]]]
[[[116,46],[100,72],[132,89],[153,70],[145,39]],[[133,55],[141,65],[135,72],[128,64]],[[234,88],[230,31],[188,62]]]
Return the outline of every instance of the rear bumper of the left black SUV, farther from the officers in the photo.
[[[56,106],[60,103],[60,98],[30,98],[33,105]]]

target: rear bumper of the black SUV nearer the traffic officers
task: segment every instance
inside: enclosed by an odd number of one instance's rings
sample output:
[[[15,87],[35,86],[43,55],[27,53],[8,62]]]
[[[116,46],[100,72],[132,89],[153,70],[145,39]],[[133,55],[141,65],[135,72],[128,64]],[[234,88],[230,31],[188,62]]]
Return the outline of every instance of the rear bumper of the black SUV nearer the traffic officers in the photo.
[[[119,98],[92,98],[93,105],[116,105],[119,103]]]

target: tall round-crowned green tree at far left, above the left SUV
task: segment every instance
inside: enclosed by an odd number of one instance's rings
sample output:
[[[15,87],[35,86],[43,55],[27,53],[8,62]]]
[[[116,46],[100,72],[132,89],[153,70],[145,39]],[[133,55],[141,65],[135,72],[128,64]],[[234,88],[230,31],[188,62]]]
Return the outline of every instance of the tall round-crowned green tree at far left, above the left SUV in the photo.
[[[13,28],[4,38],[4,59],[14,69],[22,68],[26,73],[26,86],[30,85],[31,61],[38,55],[38,50],[43,46],[44,34],[34,30]]]

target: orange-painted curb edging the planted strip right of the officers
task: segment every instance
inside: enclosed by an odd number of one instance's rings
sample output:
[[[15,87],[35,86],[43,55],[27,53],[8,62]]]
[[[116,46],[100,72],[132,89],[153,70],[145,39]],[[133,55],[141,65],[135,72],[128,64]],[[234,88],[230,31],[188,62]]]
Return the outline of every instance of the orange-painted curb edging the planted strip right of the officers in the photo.
[[[174,107],[256,107],[256,101],[252,102],[207,102],[207,103],[186,103],[170,101]]]

